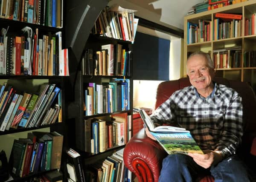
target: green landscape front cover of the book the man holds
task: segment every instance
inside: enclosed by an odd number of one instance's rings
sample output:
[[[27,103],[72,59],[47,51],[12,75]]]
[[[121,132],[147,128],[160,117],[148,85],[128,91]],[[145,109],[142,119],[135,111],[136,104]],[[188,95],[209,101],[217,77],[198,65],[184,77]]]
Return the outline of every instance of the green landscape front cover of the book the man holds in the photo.
[[[168,154],[201,153],[204,154],[190,133],[154,133],[150,132]]]

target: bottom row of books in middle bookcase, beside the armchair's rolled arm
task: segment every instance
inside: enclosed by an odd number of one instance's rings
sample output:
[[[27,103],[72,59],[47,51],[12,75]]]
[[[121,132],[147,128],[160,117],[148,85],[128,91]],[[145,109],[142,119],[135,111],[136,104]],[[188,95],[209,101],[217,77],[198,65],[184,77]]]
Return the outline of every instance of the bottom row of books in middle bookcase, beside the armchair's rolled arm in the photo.
[[[125,167],[123,150],[118,150],[102,161],[85,169],[85,178],[97,182],[130,182],[131,171]]]

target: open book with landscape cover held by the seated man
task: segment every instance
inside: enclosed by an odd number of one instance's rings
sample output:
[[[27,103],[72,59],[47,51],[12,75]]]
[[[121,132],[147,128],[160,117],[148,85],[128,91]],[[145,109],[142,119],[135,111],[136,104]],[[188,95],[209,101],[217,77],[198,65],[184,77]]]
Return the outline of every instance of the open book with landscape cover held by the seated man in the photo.
[[[163,147],[168,154],[172,153],[201,153],[198,144],[195,142],[190,132],[185,128],[172,126],[155,127],[151,118],[144,110],[139,111],[141,118],[148,130]]]

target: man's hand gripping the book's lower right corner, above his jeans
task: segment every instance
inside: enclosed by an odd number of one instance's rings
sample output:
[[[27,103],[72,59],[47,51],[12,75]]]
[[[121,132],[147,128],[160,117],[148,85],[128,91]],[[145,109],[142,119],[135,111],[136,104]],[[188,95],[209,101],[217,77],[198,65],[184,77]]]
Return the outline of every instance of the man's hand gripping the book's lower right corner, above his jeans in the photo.
[[[215,151],[211,151],[205,154],[188,153],[188,155],[192,157],[198,165],[202,166],[205,169],[211,167],[212,165],[216,165],[222,161],[221,154]]]

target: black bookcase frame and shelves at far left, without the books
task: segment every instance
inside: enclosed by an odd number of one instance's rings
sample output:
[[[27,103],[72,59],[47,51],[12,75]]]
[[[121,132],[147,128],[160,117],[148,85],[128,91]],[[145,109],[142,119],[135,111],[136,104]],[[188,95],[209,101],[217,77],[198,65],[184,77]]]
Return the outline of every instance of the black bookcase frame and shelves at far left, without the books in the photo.
[[[65,0],[64,0],[65,1]],[[21,2],[21,1],[20,1]],[[14,6],[14,5],[13,5]],[[26,26],[29,26],[32,28],[32,31],[35,32],[35,29],[38,29],[39,36],[38,38],[42,38],[43,35],[48,35],[49,32],[51,34],[55,34],[56,32],[62,33],[62,39],[64,39],[64,29],[63,28],[55,28],[50,26],[43,26],[39,24],[33,24],[33,23],[26,23],[16,20],[9,20],[0,18],[0,28],[7,28],[9,26],[9,30],[7,32],[7,35],[9,36],[20,36],[21,35],[21,29],[23,29]],[[62,43],[63,44],[63,43]],[[63,48],[63,46],[62,46]],[[38,75],[0,75],[0,85],[2,86],[4,82],[7,82],[8,85],[11,85],[14,90],[17,90],[17,93],[23,94],[23,92],[29,92],[29,93],[38,93],[38,87],[41,84],[56,84],[57,87],[61,89],[61,122],[58,122],[58,118],[54,124],[47,124],[39,127],[18,127],[17,129],[10,129],[5,131],[0,131],[1,136],[1,142],[0,142],[0,150],[3,150],[2,147],[6,146],[4,142],[9,142],[9,149],[12,150],[13,145],[13,139],[18,139],[20,137],[26,138],[26,133],[32,132],[32,130],[38,130],[42,128],[46,128],[46,130],[41,131],[57,131],[58,133],[64,135],[64,142],[63,142],[63,151],[64,148],[67,148],[67,140],[65,140],[67,135],[67,127],[66,124],[66,111],[67,111],[67,105],[65,104],[65,91],[66,91],[66,85],[68,82],[68,76],[38,76]],[[58,96],[55,98],[55,101],[58,101]],[[3,139],[3,140],[2,140]],[[6,140],[5,140],[6,139]],[[10,151],[6,151],[6,153],[9,153]],[[62,159],[64,159],[62,157]],[[9,160],[9,159],[7,159]],[[62,160],[63,161],[63,160]],[[64,172],[65,166],[61,162],[61,171]],[[12,181],[26,181],[28,179],[31,179],[35,176],[41,176],[44,173],[47,173],[51,170],[47,171],[38,171],[38,173],[30,173],[28,176],[25,176],[23,178],[15,177],[12,175],[14,180]],[[11,173],[12,174],[12,173]],[[67,176],[66,176],[67,177]],[[64,174],[65,179],[65,174]]]

